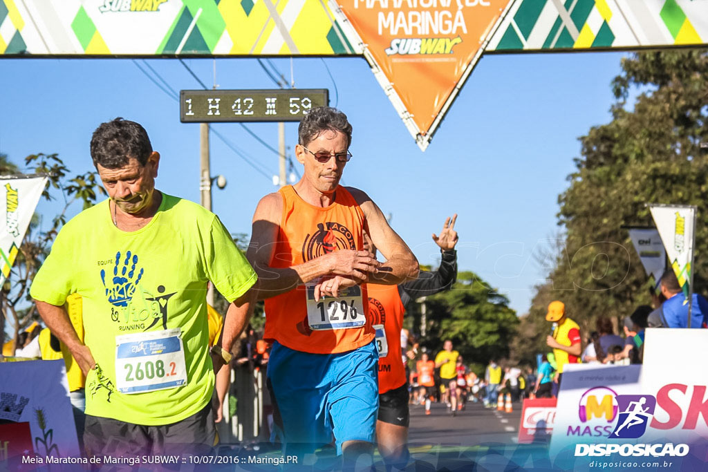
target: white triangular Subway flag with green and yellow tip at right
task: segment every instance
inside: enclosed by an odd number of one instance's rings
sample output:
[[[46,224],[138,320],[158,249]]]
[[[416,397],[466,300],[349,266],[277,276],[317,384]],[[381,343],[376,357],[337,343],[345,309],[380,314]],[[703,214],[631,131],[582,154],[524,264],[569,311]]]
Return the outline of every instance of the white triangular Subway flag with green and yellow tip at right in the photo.
[[[693,224],[695,207],[673,205],[649,205],[651,217],[656,223],[668,260],[678,278],[683,293],[688,296],[693,260]]]

